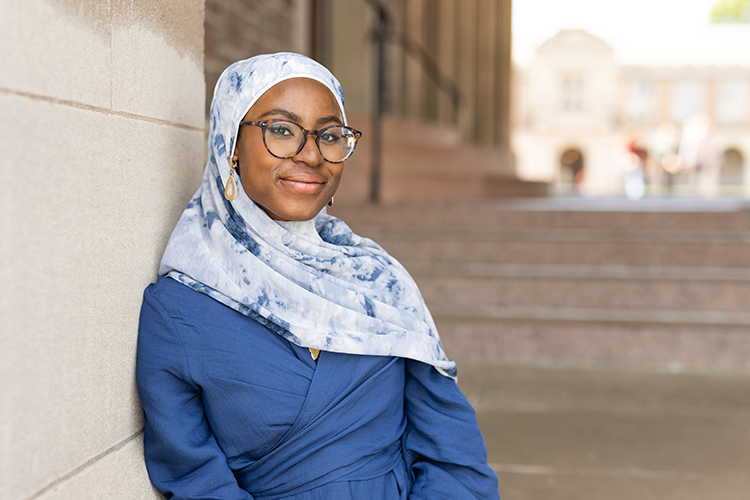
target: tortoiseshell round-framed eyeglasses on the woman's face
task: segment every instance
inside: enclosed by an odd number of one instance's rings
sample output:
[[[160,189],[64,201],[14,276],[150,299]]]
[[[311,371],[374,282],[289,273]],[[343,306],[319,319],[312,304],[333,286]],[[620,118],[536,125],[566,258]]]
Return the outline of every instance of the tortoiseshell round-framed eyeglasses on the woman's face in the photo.
[[[320,130],[307,130],[289,120],[242,121],[240,125],[263,129],[263,144],[269,153],[280,159],[298,155],[307,143],[307,136],[314,135],[321,156],[329,163],[341,163],[352,155],[357,140],[362,137],[359,130],[343,125],[329,125]]]

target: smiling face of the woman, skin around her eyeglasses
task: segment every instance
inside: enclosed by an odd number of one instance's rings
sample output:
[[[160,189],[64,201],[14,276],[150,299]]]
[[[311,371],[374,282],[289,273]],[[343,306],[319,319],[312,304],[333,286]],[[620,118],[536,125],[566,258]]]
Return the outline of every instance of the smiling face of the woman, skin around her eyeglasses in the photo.
[[[243,120],[291,120],[308,130],[343,125],[336,99],[328,88],[309,78],[284,80],[263,94]],[[263,145],[263,129],[243,125],[233,161],[239,163],[245,193],[276,220],[309,220],[333,197],[343,163],[321,156],[315,136],[293,158],[279,159]]]

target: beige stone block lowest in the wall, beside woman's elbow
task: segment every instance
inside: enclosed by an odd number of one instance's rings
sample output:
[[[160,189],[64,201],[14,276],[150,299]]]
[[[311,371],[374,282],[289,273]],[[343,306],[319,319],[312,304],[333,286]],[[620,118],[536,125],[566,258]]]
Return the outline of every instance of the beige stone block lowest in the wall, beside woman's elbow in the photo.
[[[139,433],[121,448],[92,460],[35,500],[138,500],[163,499],[151,485],[143,462],[143,437]]]

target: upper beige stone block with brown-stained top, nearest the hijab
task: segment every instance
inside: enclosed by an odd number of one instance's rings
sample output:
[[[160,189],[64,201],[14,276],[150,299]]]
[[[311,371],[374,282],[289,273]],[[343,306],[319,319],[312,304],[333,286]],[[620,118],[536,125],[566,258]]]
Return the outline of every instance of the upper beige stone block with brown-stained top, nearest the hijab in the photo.
[[[203,127],[202,0],[112,4],[112,108]]]

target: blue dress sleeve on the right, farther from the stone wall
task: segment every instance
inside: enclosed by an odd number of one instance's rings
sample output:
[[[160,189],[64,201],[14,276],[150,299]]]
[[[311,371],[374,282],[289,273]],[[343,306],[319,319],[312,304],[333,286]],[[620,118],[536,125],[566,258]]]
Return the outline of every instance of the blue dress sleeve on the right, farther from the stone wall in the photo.
[[[458,384],[407,359],[404,413],[409,500],[499,500],[476,414]]]

